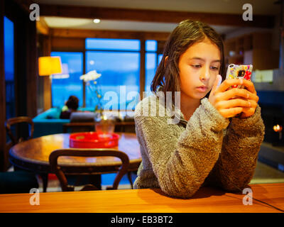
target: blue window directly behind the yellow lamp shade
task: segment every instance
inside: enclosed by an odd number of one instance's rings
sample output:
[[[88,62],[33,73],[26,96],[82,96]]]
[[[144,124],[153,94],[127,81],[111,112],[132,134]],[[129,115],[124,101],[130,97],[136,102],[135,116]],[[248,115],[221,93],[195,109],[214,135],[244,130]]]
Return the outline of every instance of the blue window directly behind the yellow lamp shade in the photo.
[[[69,77],[52,79],[52,103],[53,107],[62,107],[70,95],[79,99],[79,106],[83,104],[83,82],[80,76],[83,74],[82,52],[51,52],[51,56],[60,56],[63,73]]]

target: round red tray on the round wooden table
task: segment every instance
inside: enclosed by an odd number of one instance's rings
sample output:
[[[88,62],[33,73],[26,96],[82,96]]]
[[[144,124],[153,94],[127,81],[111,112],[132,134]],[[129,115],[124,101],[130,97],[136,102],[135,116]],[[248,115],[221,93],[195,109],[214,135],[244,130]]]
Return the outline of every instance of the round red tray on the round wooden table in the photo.
[[[116,133],[72,133],[69,138],[70,148],[113,148],[119,145]]]

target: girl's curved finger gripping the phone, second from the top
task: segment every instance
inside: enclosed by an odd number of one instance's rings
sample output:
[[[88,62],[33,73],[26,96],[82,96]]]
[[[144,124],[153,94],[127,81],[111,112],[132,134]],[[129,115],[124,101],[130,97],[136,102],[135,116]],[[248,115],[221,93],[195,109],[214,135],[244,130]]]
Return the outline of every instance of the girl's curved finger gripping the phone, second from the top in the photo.
[[[217,93],[216,99],[217,101],[229,100],[229,99],[235,98],[236,96],[239,96],[245,99],[252,99],[256,102],[258,102],[258,99],[259,99],[256,94],[253,94],[246,89],[240,89],[240,88],[229,89],[226,92]]]

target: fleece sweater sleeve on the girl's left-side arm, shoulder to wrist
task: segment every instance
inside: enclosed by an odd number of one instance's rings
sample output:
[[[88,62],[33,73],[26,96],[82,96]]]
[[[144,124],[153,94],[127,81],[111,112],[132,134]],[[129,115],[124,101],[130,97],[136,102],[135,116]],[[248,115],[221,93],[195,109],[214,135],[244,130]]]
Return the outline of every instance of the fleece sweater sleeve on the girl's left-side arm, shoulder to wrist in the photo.
[[[163,192],[188,198],[202,186],[217,162],[223,130],[229,121],[206,98],[180,135],[173,133],[168,118],[143,116],[141,105],[138,105],[134,116],[136,133]]]

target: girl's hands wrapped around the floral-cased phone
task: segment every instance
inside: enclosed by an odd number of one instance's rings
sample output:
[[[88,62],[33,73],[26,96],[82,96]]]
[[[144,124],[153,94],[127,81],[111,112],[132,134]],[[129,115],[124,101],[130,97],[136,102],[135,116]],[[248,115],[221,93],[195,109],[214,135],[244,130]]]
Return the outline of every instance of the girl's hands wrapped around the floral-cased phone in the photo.
[[[258,96],[256,95],[253,83],[246,79],[225,79],[218,87],[220,80],[222,80],[222,77],[217,75],[209,95],[209,101],[217,111],[224,118],[234,117],[242,112],[241,118],[246,118],[254,114]],[[248,90],[239,88],[229,89],[232,85],[244,85]]]

